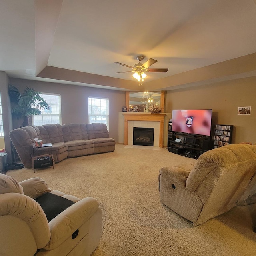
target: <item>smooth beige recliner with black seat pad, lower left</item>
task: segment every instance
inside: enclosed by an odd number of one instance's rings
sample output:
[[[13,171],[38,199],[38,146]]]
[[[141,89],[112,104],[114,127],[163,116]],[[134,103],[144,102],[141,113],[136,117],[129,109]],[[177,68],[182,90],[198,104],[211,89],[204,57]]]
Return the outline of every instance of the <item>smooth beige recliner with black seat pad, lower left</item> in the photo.
[[[0,174],[1,256],[89,256],[101,229],[96,199],[51,190],[41,178],[18,183]]]

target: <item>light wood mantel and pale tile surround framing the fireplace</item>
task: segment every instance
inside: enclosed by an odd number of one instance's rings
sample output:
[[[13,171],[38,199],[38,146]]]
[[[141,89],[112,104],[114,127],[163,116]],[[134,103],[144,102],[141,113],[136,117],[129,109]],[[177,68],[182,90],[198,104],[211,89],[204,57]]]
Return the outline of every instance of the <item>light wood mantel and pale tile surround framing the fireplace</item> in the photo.
[[[133,127],[147,127],[154,128],[154,146],[162,148],[165,133],[168,133],[169,114],[119,112],[119,143],[132,145]]]

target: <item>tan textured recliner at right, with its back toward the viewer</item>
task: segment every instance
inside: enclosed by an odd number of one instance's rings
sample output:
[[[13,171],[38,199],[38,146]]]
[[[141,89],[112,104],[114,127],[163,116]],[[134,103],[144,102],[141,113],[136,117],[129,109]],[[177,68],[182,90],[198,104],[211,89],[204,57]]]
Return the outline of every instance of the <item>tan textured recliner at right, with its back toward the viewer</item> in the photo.
[[[161,202],[194,226],[234,206],[256,202],[256,146],[215,148],[196,162],[159,172]]]

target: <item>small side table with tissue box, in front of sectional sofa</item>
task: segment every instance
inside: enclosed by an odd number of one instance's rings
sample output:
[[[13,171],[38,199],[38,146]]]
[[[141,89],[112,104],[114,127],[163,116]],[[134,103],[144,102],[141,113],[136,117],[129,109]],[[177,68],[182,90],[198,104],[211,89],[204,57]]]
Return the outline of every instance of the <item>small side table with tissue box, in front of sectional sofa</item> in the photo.
[[[46,148],[51,147],[51,154],[49,156],[37,156],[35,159],[35,152],[38,148]],[[34,172],[36,168],[46,167],[46,166],[52,166],[54,169],[54,163],[53,163],[53,157],[52,157],[52,143],[44,143],[41,147],[36,147],[33,145],[33,166],[34,166]]]

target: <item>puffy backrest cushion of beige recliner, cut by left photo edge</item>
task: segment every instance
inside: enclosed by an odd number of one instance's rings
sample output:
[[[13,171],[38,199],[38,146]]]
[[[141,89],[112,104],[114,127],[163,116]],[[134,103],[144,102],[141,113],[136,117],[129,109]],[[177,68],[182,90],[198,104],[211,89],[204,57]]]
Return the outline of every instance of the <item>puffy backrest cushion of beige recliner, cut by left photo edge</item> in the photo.
[[[11,176],[0,173],[0,194],[5,193],[23,194],[23,187]]]

